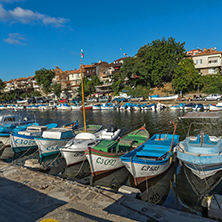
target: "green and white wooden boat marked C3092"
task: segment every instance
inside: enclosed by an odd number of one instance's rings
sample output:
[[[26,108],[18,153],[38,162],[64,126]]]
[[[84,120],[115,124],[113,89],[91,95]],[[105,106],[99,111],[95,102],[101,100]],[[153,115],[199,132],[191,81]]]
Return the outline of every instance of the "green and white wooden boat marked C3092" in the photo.
[[[124,167],[120,157],[137,148],[149,139],[149,132],[143,126],[116,141],[102,140],[96,146],[85,150],[92,175],[98,176]]]

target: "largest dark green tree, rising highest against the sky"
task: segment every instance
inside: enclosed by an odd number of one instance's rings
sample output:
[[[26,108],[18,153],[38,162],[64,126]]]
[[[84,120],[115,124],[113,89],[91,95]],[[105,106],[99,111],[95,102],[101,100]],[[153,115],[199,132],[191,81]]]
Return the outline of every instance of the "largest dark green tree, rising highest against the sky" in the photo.
[[[134,58],[129,58],[121,68],[128,78],[135,79],[137,85],[150,84],[161,86],[163,82],[171,82],[179,61],[185,57],[185,43],[176,42],[170,37],[167,40],[155,40],[142,46]]]

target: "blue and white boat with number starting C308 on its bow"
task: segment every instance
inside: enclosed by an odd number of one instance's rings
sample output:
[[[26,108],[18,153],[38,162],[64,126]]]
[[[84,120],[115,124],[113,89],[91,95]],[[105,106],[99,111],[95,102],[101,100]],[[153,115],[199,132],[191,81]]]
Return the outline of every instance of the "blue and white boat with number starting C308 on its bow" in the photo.
[[[57,123],[50,123],[44,126],[28,126],[26,130],[12,133],[10,135],[11,148],[14,153],[37,149],[38,146],[34,138],[42,136],[43,131],[57,127]]]

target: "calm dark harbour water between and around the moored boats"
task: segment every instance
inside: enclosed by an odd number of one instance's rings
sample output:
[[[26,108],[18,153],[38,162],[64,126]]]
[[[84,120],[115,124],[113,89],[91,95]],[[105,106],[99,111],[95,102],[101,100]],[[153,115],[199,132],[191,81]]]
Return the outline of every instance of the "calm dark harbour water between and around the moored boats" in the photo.
[[[36,121],[40,124],[56,122],[59,125],[66,124],[78,119],[79,126],[83,126],[83,116],[81,111],[33,111]],[[122,129],[121,134],[129,133],[142,125],[146,125],[150,135],[155,133],[172,133],[173,124],[179,116],[184,115],[181,110],[171,111],[86,111],[87,124],[100,124],[104,128],[112,125]],[[222,118],[221,118],[222,119]],[[180,139],[184,139],[186,132],[179,123],[177,134]],[[38,153],[26,154],[14,160],[16,164],[22,165],[28,158],[38,158]],[[62,157],[52,157],[45,160],[43,165],[46,172],[53,175],[73,180],[83,179],[92,185],[109,186],[118,188],[123,184],[134,186],[133,180],[125,168],[106,177],[93,180],[90,176],[89,164],[84,162],[78,166],[66,169],[65,161]],[[201,201],[210,192],[222,194],[222,172],[200,180],[193,175],[183,165],[176,161],[172,167],[157,178],[146,181],[138,188],[142,192],[142,200],[160,204],[165,207],[174,208],[180,211],[201,214]]]

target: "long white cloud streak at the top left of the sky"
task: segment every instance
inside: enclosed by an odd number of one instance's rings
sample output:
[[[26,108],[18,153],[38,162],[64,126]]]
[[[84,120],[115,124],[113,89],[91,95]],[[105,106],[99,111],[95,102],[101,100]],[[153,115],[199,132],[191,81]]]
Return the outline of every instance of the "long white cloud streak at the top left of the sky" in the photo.
[[[51,25],[53,27],[63,27],[69,20],[60,17],[50,17],[38,12],[33,12],[29,9],[22,9],[20,7],[7,11],[0,4],[0,21],[22,24],[39,23],[43,25]]]

